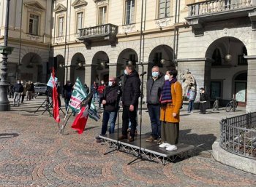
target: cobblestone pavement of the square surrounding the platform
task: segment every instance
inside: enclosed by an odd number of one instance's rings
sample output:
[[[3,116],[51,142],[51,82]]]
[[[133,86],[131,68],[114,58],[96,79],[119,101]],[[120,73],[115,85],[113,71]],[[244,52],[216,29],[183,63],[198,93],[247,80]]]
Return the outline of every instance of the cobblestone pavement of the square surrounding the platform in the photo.
[[[34,114],[44,97],[0,113],[0,186],[256,186],[256,175],[225,166],[211,158],[211,144],[219,138],[219,119],[244,114],[217,111],[187,114],[181,111],[180,141],[195,148],[195,156],[162,164],[138,161],[95,142],[101,122],[91,119],[78,135],[70,128],[64,135],[44,108]],[[63,114],[61,114],[63,117]],[[140,116],[139,116],[140,119]],[[63,120],[63,118],[62,118]],[[143,133],[150,132],[143,110]]]

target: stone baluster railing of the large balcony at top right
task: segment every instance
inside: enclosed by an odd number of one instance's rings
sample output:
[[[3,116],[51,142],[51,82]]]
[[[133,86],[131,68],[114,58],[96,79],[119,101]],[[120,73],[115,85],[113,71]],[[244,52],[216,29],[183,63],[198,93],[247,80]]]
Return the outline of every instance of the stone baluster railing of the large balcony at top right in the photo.
[[[256,0],[210,0],[189,4],[189,17],[252,7]]]

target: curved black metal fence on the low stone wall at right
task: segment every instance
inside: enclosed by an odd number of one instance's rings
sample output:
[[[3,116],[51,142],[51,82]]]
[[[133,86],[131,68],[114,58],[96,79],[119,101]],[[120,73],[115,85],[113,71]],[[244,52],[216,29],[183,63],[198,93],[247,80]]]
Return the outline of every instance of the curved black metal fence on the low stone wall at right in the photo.
[[[256,112],[222,119],[220,146],[226,151],[256,159]]]

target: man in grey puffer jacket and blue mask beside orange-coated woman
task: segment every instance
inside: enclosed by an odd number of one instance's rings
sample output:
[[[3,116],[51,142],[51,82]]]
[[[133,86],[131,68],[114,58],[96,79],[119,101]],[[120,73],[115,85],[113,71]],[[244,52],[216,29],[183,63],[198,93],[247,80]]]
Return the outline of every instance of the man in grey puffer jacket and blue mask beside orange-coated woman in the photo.
[[[157,141],[161,138],[161,122],[160,122],[160,96],[162,87],[165,84],[165,76],[159,71],[159,67],[155,65],[152,68],[152,76],[146,84],[148,114],[151,122],[151,136],[146,139],[147,142]]]

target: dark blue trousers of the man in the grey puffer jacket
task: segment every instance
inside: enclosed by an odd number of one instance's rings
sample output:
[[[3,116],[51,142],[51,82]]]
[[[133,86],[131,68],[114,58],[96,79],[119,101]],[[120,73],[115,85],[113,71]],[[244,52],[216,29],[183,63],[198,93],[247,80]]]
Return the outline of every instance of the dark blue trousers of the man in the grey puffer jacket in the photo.
[[[155,139],[161,137],[160,105],[148,104],[148,114],[151,121],[151,136]]]

